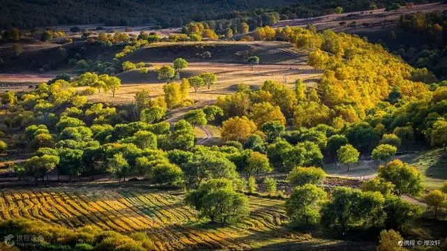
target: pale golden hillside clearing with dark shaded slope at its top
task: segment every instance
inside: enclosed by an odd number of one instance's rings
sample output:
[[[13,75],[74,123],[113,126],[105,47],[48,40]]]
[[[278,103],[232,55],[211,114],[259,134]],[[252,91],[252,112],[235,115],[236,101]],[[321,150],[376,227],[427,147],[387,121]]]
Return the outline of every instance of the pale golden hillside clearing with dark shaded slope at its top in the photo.
[[[210,51],[210,59],[201,59],[198,52]],[[237,54],[256,55],[260,65],[251,67]],[[129,103],[133,101],[135,92],[142,89],[150,91],[152,96],[163,95],[165,82],[158,79],[156,69],[171,64],[178,57],[190,61],[182,70],[181,77],[191,77],[200,73],[214,73],[217,84],[210,89],[202,87],[197,93],[191,89],[193,100],[216,100],[219,96],[234,93],[237,84],[244,83],[257,89],[267,79],[283,82],[293,88],[295,79],[302,79],[309,87],[318,85],[322,71],[307,66],[307,54],[293,49],[290,43],[284,42],[208,42],[208,43],[156,43],[144,47],[129,55],[125,60],[149,63],[149,72],[129,70],[120,73],[122,87],[112,97],[111,93],[96,93],[89,97],[94,102]]]

